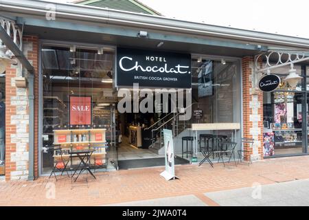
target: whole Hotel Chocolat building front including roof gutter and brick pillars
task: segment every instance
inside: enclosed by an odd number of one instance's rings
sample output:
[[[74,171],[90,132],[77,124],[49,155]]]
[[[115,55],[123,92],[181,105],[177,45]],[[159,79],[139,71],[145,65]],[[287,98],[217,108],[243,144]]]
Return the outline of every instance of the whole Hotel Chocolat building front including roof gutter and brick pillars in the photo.
[[[218,140],[250,149],[252,160],[308,153],[308,61],[295,63],[293,88],[289,65],[270,68],[281,82],[269,92],[258,90],[256,68],[268,47],[302,52],[306,39],[63,3],[48,20],[46,3],[20,1],[3,1],[1,18],[23,26],[24,56],[0,75],[5,179],[49,175],[72,148],[93,148],[100,170],[163,165],[162,129],[172,130],[176,164],[201,162],[201,148]],[[242,137],[255,141],[242,145]]]

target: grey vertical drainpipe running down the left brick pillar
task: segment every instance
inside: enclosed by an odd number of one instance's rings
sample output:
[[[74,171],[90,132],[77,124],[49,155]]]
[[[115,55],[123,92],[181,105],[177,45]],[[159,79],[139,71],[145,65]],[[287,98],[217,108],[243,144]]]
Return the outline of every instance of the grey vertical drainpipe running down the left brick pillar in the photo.
[[[29,174],[28,180],[34,180],[34,74],[28,72],[29,98]]]

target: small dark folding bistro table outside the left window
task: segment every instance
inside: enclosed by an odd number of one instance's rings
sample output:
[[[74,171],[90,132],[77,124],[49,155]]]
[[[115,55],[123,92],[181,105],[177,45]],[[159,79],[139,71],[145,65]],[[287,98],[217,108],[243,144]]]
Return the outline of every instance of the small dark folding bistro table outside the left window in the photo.
[[[69,152],[70,158],[78,157],[80,159],[80,163],[78,164],[78,166],[75,166],[76,168],[74,168],[74,166],[71,167],[74,171],[73,175],[71,176],[72,179],[73,179],[74,175],[76,174],[76,172],[78,172],[78,170],[80,170],[80,172],[78,173],[78,176],[76,177],[74,182],[78,179],[78,177],[80,176],[80,174],[84,170],[86,170],[86,172],[88,171],[93,176],[93,178],[95,178],[95,175],[91,172],[91,170],[89,168],[89,164],[88,164],[90,157],[91,157],[93,152],[94,151],[91,151],[91,150],[75,150],[75,151]]]

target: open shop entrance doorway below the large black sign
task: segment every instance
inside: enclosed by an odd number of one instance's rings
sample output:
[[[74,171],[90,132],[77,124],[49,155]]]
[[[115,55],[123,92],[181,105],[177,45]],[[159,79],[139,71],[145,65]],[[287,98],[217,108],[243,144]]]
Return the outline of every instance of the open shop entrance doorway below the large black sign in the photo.
[[[142,99],[139,99],[139,103]],[[142,113],[117,113],[117,140],[119,169],[164,166],[165,155],[159,142],[159,130],[156,129],[172,117],[168,100],[168,112],[163,113],[163,98],[161,102],[152,102],[153,111]],[[132,103],[133,104],[133,103]],[[172,129],[172,121],[166,124],[166,129]],[[187,159],[175,158],[175,164],[188,164]]]

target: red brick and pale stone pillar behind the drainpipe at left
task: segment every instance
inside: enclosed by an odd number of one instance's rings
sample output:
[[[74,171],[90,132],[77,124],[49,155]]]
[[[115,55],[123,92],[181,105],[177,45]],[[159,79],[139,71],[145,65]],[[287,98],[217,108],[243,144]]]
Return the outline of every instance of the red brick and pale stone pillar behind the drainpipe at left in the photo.
[[[23,36],[23,53],[35,69],[38,93],[38,37]],[[28,89],[16,87],[15,78],[23,76],[21,64],[5,71],[5,180],[27,179],[29,174],[29,100]],[[25,72],[25,71],[24,71]],[[35,102],[35,174],[38,174],[38,99]]]

